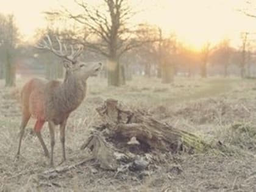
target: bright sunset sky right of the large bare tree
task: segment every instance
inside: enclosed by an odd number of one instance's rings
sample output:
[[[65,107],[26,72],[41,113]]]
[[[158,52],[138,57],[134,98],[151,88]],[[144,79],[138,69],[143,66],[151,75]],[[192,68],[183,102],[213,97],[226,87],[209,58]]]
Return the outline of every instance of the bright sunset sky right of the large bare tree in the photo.
[[[256,30],[256,20],[238,11],[245,6],[243,0],[157,1],[155,4],[158,6],[151,7],[151,15],[144,13],[143,19],[166,32],[176,33],[181,41],[196,49],[207,41],[215,44],[223,38],[230,38],[237,45],[241,32]]]

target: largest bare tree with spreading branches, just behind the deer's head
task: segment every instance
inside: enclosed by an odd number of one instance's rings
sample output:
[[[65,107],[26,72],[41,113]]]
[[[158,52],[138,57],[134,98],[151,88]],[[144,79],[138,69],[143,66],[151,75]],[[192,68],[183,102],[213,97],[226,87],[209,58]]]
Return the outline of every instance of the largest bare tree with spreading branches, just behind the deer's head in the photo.
[[[48,15],[64,16],[79,23],[84,33],[77,38],[80,43],[108,59],[108,85],[125,84],[124,67],[119,62],[120,57],[141,44],[140,41],[131,40],[134,31],[129,26],[129,20],[135,12],[129,6],[129,1],[102,0],[103,6],[99,7],[88,5],[84,0],[74,2],[82,12],[73,13],[63,8]]]

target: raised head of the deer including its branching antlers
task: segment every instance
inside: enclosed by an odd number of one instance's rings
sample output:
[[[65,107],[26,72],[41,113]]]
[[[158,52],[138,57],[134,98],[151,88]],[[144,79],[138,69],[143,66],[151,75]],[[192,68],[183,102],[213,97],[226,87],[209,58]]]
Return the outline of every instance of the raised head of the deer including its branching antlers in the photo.
[[[70,49],[65,44],[62,44],[58,37],[55,37],[59,44],[59,50],[54,49],[51,38],[49,35],[46,36],[47,40],[43,40],[42,43],[37,44],[36,48],[46,49],[51,51],[58,57],[63,59],[63,66],[66,69],[66,75],[73,75],[79,79],[86,80],[90,76],[96,76],[101,69],[101,63],[84,63],[78,60],[78,57],[84,50],[83,46],[79,46],[74,50],[73,45],[70,45]]]

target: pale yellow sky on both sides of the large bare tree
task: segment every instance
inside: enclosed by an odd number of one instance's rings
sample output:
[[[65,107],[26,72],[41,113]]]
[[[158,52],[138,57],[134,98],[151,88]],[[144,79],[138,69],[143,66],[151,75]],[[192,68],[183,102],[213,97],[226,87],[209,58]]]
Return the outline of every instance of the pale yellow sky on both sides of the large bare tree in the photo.
[[[100,2],[89,1],[93,4]],[[135,19],[137,22],[156,24],[162,27],[166,34],[175,33],[180,41],[195,49],[199,49],[207,41],[215,44],[223,38],[230,38],[233,44],[238,45],[241,41],[241,32],[256,32],[256,18],[249,18],[238,11],[245,7],[254,8],[253,5],[248,6],[246,0],[130,0],[130,2],[141,10]],[[57,9],[60,5],[73,7],[74,3],[73,0],[0,0],[0,5],[1,13],[15,15],[16,24],[24,40],[29,41],[36,29],[46,26],[42,12]]]

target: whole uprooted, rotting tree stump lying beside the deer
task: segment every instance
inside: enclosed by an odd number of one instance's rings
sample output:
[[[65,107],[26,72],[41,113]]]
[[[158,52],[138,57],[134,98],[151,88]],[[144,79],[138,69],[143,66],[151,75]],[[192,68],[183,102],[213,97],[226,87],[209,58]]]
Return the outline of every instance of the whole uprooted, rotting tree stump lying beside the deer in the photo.
[[[133,170],[158,161],[158,154],[203,152],[211,148],[192,133],[162,123],[139,110],[130,110],[115,99],[96,109],[103,124],[93,130],[81,149],[90,149],[101,168]]]

